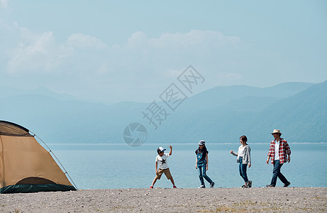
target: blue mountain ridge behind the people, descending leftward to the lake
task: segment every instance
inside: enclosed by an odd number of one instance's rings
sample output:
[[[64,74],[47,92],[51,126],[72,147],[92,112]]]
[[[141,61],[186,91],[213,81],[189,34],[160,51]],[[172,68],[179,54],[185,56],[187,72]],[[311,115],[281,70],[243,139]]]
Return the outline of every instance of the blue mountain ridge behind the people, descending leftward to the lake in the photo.
[[[251,142],[267,142],[273,129],[281,129],[289,141],[322,142],[327,137],[326,104],[327,81],[284,99],[243,97],[215,109],[177,114],[155,138],[231,142],[245,134]]]

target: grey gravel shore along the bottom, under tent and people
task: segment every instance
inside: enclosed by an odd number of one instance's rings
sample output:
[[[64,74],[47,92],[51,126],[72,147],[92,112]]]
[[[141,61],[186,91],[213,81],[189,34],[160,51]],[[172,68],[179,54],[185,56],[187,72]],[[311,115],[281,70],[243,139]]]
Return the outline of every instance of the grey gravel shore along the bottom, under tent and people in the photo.
[[[327,212],[326,187],[115,189],[0,195],[0,212]]]

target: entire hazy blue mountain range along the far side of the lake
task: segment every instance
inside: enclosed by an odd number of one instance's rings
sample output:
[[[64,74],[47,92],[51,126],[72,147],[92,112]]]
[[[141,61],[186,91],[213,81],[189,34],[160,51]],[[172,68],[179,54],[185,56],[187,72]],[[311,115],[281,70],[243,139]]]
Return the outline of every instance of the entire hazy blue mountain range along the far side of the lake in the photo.
[[[110,102],[110,100],[109,100]],[[326,142],[327,81],[286,82],[274,87],[214,87],[189,97],[155,130],[143,118],[151,103],[101,104],[57,94],[45,87],[25,91],[0,87],[0,120],[20,124],[46,143],[124,143],[123,130],[139,122],[145,143],[267,142],[281,129],[289,142]]]

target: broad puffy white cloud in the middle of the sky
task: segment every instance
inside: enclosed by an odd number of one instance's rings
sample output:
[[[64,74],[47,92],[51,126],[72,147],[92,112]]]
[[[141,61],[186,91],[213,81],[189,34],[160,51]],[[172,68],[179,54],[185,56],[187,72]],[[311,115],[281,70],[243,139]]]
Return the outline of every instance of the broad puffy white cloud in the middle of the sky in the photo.
[[[106,72],[123,68],[135,79],[150,76],[172,79],[176,73],[173,70],[184,70],[190,64],[206,67],[210,62],[212,70],[218,64],[233,63],[233,55],[242,44],[238,36],[218,31],[162,33],[154,38],[137,31],[125,43],[112,46],[106,60],[110,65]],[[204,65],[206,63],[208,65]]]

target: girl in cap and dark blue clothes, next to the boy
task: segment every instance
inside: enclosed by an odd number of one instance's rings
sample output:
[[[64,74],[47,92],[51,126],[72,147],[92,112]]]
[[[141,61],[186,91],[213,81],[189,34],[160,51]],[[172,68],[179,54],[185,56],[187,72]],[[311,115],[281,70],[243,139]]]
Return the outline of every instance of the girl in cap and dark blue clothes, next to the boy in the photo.
[[[201,186],[199,188],[205,188],[206,185],[204,185],[204,179],[209,182],[210,187],[214,187],[215,183],[212,181],[208,175],[206,175],[206,170],[208,170],[208,153],[209,151],[206,149],[205,141],[200,141],[199,142],[199,148],[196,149],[195,154],[196,154],[196,163],[195,163],[195,168],[198,169],[199,171],[199,178],[201,182]]]

